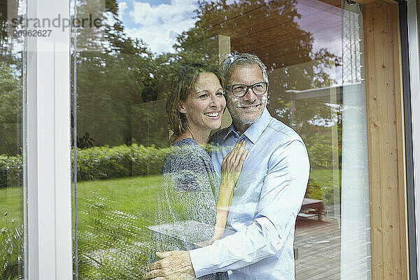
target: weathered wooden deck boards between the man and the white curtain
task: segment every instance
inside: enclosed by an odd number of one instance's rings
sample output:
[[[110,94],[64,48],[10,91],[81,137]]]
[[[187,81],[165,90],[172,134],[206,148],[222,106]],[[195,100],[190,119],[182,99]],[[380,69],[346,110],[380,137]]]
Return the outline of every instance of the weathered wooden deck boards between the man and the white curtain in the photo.
[[[297,280],[340,279],[340,232],[335,218],[298,217],[295,248]]]

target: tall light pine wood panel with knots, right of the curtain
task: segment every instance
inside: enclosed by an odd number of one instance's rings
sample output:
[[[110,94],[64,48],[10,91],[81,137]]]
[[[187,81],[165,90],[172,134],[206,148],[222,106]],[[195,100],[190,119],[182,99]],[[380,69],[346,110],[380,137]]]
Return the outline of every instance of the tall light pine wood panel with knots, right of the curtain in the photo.
[[[398,4],[363,6],[372,279],[408,279]]]

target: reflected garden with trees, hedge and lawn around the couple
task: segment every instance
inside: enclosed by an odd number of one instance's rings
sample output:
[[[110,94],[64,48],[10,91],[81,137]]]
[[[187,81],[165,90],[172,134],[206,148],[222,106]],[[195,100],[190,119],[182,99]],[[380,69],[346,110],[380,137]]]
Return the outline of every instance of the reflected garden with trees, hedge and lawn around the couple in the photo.
[[[83,14],[83,8],[92,8],[99,2],[102,1],[80,1],[78,13]],[[316,3],[318,10],[337,11],[334,6]],[[180,65],[218,64],[219,34],[230,37],[231,51],[255,53],[267,64],[270,80],[267,109],[272,116],[293,127],[307,145],[311,160],[307,197],[323,200],[326,207],[339,204],[342,108],[339,104],[331,106],[334,102],[330,96],[297,100],[287,91],[337,83],[330,71],[341,66],[341,58],[326,48],[315,50],[314,34],[304,28],[318,25],[322,21],[313,19],[323,18],[325,14],[312,15],[307,10],[310,16],[302,16],[297,12],[298,5],[311,6],[311,3],[200,1],[195,11],[195,26],[177,36],[174,53],[153,53],[141,39],[127,36],[116,0],[106,1],[104,14],[113,20],[107,21],[104,32],[97,38],[90,38],[92,34],[83,34],[83,29],[78,29],[76,141],[80,149],[80,278],[139,278],[145,261],[144,227],[153,222],[154,197],[160,183],[158,174],[168,146],[165,98]],[[332,5],[340,6],[340,3]],[[0,28],[6,30],[4,20],[0,18],[4,23]],[[324,27],[319,24],[318,29]],[[7,93],[0,95],[3,132],[0,209],[8,215],[0,218],[0,229],[8,228],[11,232],[13,228],[22,228],[22,188],[15,187],[22,185],[22,135],[16,133],[22,127],[22,73],[16,71],[22,60],[20,55],[8,51],[7,34],[6,31],[0,34],[0,59],[5,62],[0,66],[0,92]],[[83,42],[90,45],[87,47]],[[333,178],[334,168],[336,178]],[[5,237],[2,232],[3,246],[22,244],[5,245]],[[7,250],[1,248],[1,252]],[[18,258],[22,259],[22,255],[13,255],[14,260]],[[2,260],[0,267],[4,267]],[[0,278],[1,273],[0,270]]]

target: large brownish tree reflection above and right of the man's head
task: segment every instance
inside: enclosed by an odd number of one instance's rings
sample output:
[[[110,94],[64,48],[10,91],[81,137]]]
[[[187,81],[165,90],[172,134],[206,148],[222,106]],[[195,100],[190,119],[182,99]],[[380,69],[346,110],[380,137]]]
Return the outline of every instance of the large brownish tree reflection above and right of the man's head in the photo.
[[[308,90],[337,83],[330,71],[341,57],[326,48],[314,50],[314,36],[302,29],[298,0],[200,1],[195,27],[178,38],[176,50],[183,59],[218,61],[216,34],[230,36],[232,50],[255,53],[269,70],[269,103],[273,116],[291,125],[309,147],[314,167],[331,166],[331,125],[341,131],[341,109],[319,99],[292,100],[286,90]],[[204,54],[204,55],[203,55]],[[337,115],[338,120],[334,115]],[[320,125],[323,120],[328,125]],[[341,143],[339,133],[338,143]],[[341,147],[339,153],[341,153]]]

